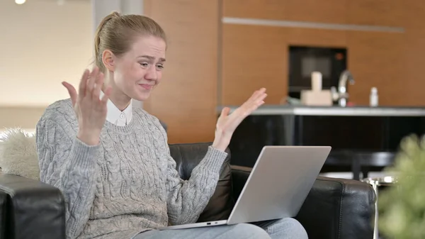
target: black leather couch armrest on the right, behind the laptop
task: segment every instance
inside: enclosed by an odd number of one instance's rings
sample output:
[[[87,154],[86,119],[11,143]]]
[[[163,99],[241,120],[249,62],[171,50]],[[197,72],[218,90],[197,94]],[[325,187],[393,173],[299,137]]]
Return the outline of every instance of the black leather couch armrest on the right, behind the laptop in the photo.
[[[241,193],[251,167],[232,166],[233,195]],[[309,239],[372,239],[375,192],[363,182],[317,177],[295,217]]]

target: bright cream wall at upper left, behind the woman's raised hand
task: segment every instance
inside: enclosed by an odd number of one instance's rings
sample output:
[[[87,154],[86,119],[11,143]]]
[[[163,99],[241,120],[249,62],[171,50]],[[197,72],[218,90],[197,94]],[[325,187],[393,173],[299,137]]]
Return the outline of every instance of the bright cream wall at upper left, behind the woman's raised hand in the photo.
[[[92,60],[91,1],[1,0],[0,22],[0,107],[67,98],[60,83],[78,84]]]

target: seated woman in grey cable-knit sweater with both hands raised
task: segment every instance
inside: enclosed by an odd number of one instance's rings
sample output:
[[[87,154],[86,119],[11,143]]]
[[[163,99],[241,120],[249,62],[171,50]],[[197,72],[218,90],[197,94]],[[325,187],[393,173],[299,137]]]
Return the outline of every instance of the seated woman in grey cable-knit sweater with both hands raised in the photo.
[[[162,78],[166,37],[145,16],[111,13],[98,26],[96,67],[81,77],[78,94],[50,105],[37,126],[40,179],[61,189],[67,238],[307,238],[294,219],[155,230],[194,223],[212,196],[234,129],[263,104],[265,89],[217,121],[215,140],[183,181],[166,133],[152,115],[132,109]],[[266,231],[268,233],[266,233]],[[270,235],[268,235],[270,234]]]

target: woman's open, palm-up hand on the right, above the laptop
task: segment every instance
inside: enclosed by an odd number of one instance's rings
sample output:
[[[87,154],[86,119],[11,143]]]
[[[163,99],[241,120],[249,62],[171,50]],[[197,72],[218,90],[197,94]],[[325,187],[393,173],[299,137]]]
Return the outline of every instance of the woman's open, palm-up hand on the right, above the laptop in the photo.
[[[264,104],[266,96],[266,89],[261,88],[254,91],[254,94],[231,114],[229,114],[230,109],[228,107],[222,109],[222,113],[217,120],[215,140],[214,143],[212,143],[212,147],[224,151],[229,145],[230,139],[237,126],[239,126],[246,116],[249,116],[253,111],[258,109],[259,106]]]

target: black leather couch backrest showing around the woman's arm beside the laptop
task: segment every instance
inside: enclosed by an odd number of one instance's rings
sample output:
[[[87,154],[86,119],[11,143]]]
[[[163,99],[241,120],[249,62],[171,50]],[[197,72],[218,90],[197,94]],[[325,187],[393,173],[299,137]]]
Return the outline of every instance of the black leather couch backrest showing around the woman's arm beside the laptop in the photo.
[[[182,179],[189,179],[194,167],[205,156],[211,143],[187,143],[169,145],[171,157],[176,161],[176,169]],[[232,170],[230,169],[230,151],[220,170],[220,178],[214,194],[198,222],[225,220],[230,216],[234,206],[232,197]]]

